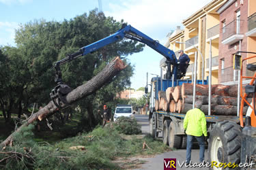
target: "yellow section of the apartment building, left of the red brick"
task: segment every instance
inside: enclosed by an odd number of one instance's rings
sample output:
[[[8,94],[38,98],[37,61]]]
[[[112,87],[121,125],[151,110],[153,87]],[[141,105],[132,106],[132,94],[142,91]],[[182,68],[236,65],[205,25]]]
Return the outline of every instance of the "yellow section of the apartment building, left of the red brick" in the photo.
[[[212,49],[212,84],[218,84],[218,44],[220,20],[217,10],[227,0],[212,0],[200,10],[183,20],[184,30],[169,37],[169,48],[174,52],[184,50],[190,57],[185,79],[191,79],[197,52],[197,79],[209,75],[210,44]],[[210,43],[211,42],[211,43]],[[167,45],[167,44],[166,44]],[[178,56],[178,55],[176,55]]]

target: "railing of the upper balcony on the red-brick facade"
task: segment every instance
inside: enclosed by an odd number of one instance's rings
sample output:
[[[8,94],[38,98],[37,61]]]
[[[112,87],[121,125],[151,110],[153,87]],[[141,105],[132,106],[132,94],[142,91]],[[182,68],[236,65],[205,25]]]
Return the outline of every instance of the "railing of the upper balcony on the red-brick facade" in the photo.
[[[241,34],[240,27],[243,24],[244,20],[233,20],[226,27],[223,27],[223,39],[227,39],[232,35]]]

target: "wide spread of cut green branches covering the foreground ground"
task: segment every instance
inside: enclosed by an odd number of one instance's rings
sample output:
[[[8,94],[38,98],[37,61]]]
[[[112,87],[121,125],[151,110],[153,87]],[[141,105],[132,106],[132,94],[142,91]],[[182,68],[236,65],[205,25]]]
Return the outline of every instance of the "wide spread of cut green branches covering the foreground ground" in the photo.
[[[162,141],[150,136],[120,135],[110,124],[104,129],[98,126],[90,133],[63,139],[57,143],[35,142],[31,135],[33,125],[25,127],[15,137],[15,147],[8,147],[0,154],[3,169],[120,169],[112,160],[141,154],[158,154],[169,150]],[[129,137],[129,139],[127,139]],[[18,141],[16,141],[18,139]],[[29,141],[29,142],[28,142]],[[143,143],[149,148],[143,148]],[[83,146],[85,150],[71,150],[72,146]],[[18,158],[15,157],[18,155]]]

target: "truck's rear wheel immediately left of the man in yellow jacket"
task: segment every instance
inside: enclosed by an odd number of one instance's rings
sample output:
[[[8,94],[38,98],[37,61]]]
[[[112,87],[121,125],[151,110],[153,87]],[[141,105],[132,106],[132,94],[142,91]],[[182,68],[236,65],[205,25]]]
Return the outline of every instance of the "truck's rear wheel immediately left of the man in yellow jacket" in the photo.
[[[174,123],[171,122],[169,126],[169,133],[168,133],[169,147],[180,149],[180,142],[182,141],[182,136],[175,135],[174,132],[175,132],[175,126],[174,126]]]

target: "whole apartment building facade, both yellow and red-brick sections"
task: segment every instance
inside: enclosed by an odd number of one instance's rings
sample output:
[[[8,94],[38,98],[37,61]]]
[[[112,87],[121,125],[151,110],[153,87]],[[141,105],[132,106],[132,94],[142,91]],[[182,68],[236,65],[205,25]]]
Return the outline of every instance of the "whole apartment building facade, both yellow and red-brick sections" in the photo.
[[[166,47],[184,50],[190,65],[184,79],[193,77],[197,52],[197,79],[209,75],[209,58],[212,57],[212,84],[237,84],[238,71],[233,70],[233,54],[238,51],[256,52],[256,1],[212,0],[183,20],[183,30],[169,34]],[[241,53],[242,58],[254,54]],[[244,62],[256,64],[256,59]],[[252,76],[246,69],[243,75]],[[244,83],[247,83],[244,81]]]

